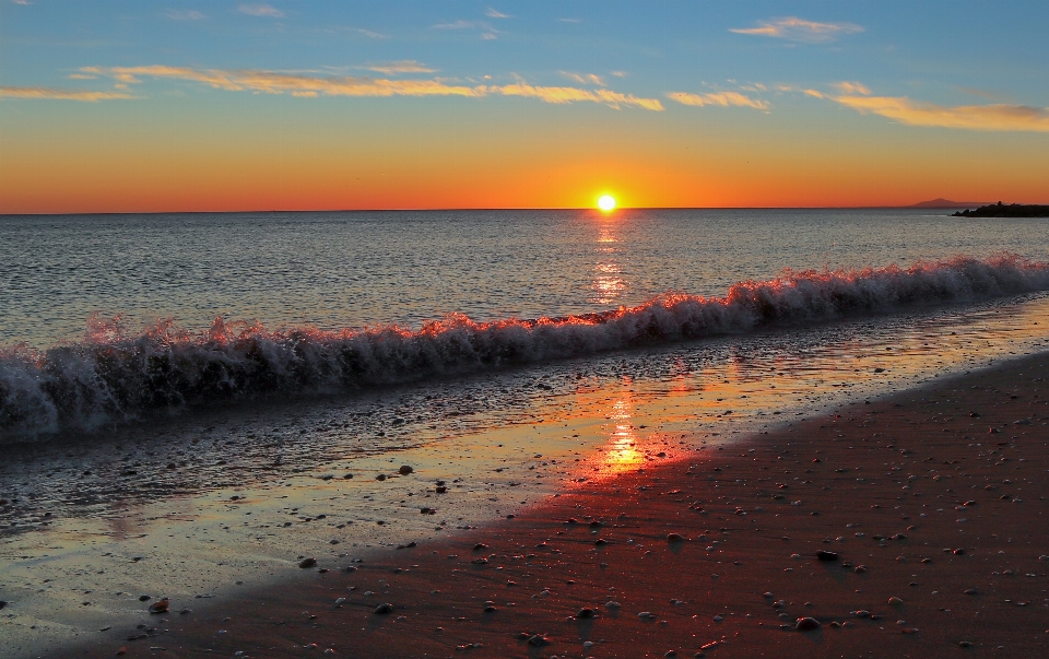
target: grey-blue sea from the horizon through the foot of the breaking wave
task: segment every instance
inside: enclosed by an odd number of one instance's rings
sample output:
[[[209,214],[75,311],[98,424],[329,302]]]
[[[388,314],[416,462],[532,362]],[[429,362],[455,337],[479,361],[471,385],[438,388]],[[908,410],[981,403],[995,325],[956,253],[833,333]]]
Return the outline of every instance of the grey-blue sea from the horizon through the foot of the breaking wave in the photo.
[[[945,215],[7,216],[0,433],[95,429],[156,410],[370,390],[1049,287],[1044,220]]]

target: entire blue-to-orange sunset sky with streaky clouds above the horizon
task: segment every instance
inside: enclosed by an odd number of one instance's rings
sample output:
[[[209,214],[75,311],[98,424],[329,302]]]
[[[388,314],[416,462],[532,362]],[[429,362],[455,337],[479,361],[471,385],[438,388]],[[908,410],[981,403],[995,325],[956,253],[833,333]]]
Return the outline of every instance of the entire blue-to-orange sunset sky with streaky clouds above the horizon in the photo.
[[[0,0],[0,213],[1049,202],[1049,2]]]

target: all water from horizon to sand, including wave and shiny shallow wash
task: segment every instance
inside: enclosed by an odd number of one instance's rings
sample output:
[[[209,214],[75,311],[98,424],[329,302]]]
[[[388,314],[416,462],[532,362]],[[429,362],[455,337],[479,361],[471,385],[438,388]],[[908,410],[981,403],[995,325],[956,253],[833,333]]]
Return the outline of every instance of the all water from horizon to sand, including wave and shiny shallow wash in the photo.
[[[30,582],[46,555],[69,592],[103,587],[86,543],[166,556],[137,582],[200,595],[1042,351],[1047,228],[899,209],[0,217],[0,574]],[[45,590],[21,597],[76,605]]]

